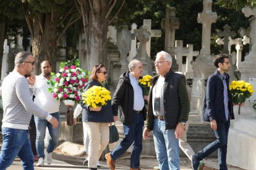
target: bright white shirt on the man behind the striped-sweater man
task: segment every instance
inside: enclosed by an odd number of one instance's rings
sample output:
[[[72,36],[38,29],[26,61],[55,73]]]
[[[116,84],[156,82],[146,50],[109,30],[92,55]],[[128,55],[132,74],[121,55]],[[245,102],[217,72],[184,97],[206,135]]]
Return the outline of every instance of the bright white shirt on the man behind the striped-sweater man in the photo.
[[[56,113],[59,111],[59,100],[53,98],[53,94],[48,92],[48,88],[51,84],[47,84],[48,79],[42,74],[36,76],[36,82],[34,85],[34,102],[43,110],[48,113]]]

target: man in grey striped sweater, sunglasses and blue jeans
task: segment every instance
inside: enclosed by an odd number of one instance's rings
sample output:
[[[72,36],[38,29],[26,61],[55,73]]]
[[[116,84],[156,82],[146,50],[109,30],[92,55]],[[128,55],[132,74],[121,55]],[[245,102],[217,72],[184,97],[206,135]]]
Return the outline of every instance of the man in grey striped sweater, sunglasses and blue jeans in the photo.
[[[34,169],[33,153],[28,138],[28,124],[32,114],[47,119],[54,128],[58,127],[59,122],[33,103],[33,89],[28,89],[28,85],[35,84],[35,78],[32,76],[35,65],[33,54],[27,51],[19,52],[14,62],[14,70],[2,81],[4,117],[0,169],[11,166],[17,155],[22,161],[23,169]]]

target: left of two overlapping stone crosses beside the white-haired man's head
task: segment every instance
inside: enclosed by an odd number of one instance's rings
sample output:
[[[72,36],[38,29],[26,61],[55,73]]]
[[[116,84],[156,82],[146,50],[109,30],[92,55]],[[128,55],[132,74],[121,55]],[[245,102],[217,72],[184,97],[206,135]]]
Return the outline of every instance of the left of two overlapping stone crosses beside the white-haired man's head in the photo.
[[[182,72],[182,56],[189,53],[189,48],[183,47],[182,40],[176,40],[174,52],[177,64],[179,65],[178,71]]]

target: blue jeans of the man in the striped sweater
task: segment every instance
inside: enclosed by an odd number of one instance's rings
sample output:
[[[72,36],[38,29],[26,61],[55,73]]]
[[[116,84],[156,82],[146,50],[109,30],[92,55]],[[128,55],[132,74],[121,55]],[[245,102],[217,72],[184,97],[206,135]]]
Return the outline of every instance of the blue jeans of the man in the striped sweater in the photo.
[[[33,170],[34,157],[28,138],[28,130],[2,127],[2,148],[0,154],[0,169],[11,166],[16,156],[22,161],[24,170]]]

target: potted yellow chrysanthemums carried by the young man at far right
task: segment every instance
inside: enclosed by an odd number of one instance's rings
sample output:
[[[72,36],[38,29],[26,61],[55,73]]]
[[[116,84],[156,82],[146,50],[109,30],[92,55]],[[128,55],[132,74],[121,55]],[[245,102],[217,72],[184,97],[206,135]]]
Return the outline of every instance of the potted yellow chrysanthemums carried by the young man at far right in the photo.
[[[244,103],[254,92],[254,87],[245,81],[232,81],[229,86],[233,103]]]

